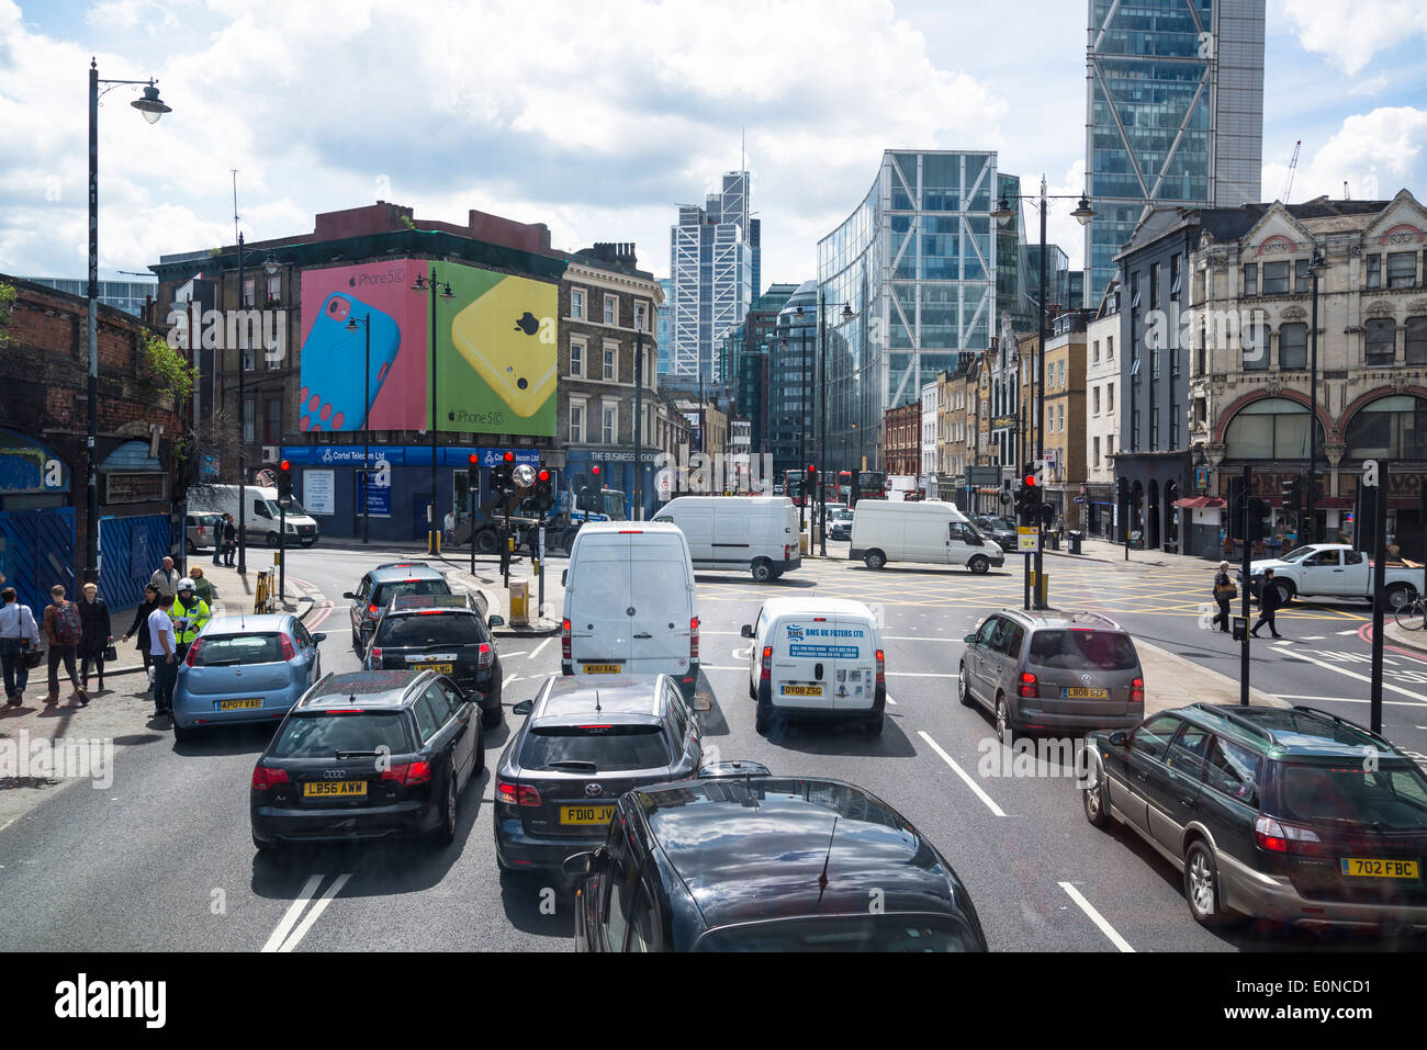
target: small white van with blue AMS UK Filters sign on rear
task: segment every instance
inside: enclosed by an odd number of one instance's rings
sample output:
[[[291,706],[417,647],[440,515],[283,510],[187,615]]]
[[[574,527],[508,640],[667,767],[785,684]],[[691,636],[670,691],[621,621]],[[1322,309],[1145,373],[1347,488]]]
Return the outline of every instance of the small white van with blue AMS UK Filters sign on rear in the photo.
[[[773,598],[745,623],[748,695],[755,728],[782,718],[853,719],[882,732],[888,690],[882,632],[862,602],[848,598]]]

